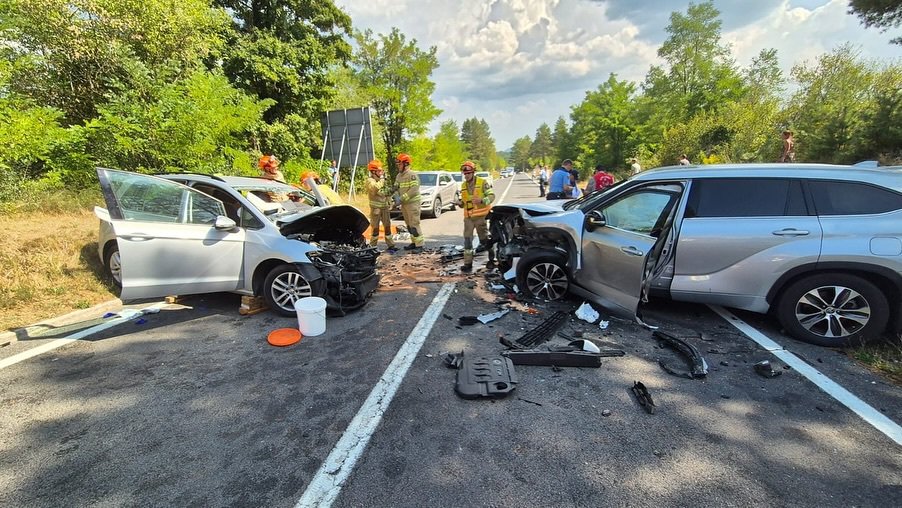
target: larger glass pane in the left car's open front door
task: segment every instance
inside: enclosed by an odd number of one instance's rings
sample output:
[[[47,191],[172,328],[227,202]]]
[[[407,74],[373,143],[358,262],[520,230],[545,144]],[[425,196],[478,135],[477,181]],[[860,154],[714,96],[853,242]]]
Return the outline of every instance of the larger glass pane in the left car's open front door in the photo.
[[[138,173],[110,171],[110,190],[125,220],[178,222],[182,198],[190,191],[175,182]]]

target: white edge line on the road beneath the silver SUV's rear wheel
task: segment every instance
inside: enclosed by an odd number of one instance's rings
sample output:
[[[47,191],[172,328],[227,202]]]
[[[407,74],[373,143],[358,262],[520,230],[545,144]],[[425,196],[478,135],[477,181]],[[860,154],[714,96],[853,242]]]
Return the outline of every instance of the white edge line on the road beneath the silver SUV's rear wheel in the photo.
[[[747,335],[750,339],[757,342],[761,347],[770,351],[777,358],[789,365],[799,374],[808,378],[818,388],[823,390],[834,399],[838,400],[842,405],[851,409],[852,412],[860,416],[864,421],[872,425],[875,429],[886,434],[896,444],[902,445],[902,427],[896,422],[890,420],[886,415],[868,405],[865,401],[853,395],[850,391],[838,385],[835,381],[824,375],[819,370],[805,363],[798,356],[787,351],[783,346],[774,342],[770,337],[764,335],[757,329],[750,326],[745,321],[736,317],[733,313],[727,311],[723,307],[717,305],[708,306],[714,312],[720,314],[728,323],[735,326],[740,332]]]

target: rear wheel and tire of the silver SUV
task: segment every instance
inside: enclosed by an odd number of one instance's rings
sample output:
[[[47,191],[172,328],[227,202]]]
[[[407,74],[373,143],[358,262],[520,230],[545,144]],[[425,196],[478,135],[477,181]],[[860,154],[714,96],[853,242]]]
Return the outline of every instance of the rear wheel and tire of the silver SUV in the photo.
[[[883,333],[889,303],[877,286],[861,277],[823,273],[787,287],[777,304],[777,318],[799,340],[845,347]]]

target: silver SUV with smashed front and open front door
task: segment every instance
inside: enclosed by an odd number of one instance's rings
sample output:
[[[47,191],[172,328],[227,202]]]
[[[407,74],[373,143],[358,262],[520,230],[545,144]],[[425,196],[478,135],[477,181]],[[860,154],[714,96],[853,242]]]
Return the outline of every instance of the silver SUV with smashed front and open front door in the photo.
[[[494,207],[503,269],[640,320],[648,295],[776,315],[842,346],[902,328],[902,169],[672,167],[600,193]]]

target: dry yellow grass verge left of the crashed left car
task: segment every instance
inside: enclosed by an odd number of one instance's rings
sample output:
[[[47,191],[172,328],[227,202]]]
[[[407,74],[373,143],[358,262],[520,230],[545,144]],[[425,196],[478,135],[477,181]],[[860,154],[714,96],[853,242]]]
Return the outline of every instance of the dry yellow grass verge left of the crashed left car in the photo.
[[[5,277],[0,329],[15,329],[87,308],[116,295],[103,280],[92,211],[0,216]]]

